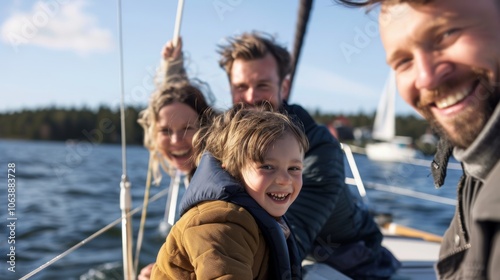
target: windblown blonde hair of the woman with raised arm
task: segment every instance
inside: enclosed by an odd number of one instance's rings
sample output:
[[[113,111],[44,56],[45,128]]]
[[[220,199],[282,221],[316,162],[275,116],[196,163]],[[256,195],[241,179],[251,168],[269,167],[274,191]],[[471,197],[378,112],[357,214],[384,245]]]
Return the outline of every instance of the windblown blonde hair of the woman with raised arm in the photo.
[[[137,122],[144,129],[144,147],[150,152],[154,184],[161,182],[160,166],[170,176],[175,172],[174,167],[163,157],[156,141],[160,110],[174,102],[186,104],[198,113],[198,122],[203,125],[216,113],[208,110],[211,107],[201,90],[203,87],[209,91],[208,85],[201,81],[183,80],[165,84],[153,92],[148,107],[139,113]]]

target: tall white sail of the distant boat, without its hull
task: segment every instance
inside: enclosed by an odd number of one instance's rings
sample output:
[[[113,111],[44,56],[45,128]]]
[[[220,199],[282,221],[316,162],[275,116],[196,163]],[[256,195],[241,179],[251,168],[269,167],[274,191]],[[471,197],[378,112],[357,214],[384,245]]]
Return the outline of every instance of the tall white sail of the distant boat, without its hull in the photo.
[[[378,103],[372,132],[373,139],[381,141],[394,139],[396,134],[396,113],[394,108],[396,106],[396,91],[396,74],[391,70]]]

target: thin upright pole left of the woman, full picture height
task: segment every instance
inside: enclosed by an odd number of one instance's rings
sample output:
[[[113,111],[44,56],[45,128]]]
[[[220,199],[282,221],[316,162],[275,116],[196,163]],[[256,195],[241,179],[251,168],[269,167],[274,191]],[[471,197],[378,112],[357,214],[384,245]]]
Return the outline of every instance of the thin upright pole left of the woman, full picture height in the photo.
[[[123,251],[123,279],[135,279],[135,272],[132,263],[132,217],[128,215],[132,205],[130,195],[130,181],[127,176],[127,154],[126,154],[126,133],[125,133],[125,94],[123,81],[123,36],[122,36],[122,12],[121,0],[118,0],[118,39],[120,47],[120,120],[122,138],[122,176],[120,182],[120,210],[122,213],[122,251]]]

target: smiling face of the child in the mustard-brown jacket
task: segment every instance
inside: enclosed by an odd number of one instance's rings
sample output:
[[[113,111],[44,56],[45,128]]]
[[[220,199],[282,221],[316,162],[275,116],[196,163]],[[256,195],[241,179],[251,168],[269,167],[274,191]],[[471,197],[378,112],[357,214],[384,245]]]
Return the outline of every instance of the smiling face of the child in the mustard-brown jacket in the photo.
[[[248,162],[241,170],[245,190],[271,216],[283,216],[302,188],[304,153],[286,133],[267,151],[264,162]]]

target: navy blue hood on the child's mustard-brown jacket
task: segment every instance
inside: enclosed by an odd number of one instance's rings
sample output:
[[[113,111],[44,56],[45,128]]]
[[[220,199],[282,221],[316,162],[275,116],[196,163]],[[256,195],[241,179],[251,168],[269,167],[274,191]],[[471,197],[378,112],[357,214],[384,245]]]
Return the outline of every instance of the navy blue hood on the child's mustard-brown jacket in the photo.
[[[244,192],[241,183],[227,173],[217,159],[205,152],[181,200],[180,214],[183,215],[200,202],[228,200],[229,197]]]

